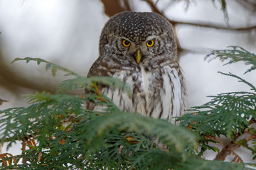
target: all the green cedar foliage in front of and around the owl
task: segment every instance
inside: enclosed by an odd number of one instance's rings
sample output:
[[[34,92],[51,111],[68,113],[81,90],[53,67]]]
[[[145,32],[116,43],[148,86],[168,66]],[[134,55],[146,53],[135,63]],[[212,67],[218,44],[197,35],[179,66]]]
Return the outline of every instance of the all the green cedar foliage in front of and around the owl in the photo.
[[[242,61],[256,68],[256,55],[241,47],[213,51],[209,60]],[[251,91],[218,94],[203,106],[191,108],[178,118],[180,125],[166,120],[125,113],[97,90],[97,83],[110,88],[129,88],[111,77],[83,77],[70,69],[38,58],[16,59],[45,63],[55,76],[65,72],[65,79],[56,94],[46,91],[27,95],[30,106],[0,110],[1,143],[9,148],[22,142],[21,155],[0,154],[1,169],[252,169],[234,151],[245,147],[256,158],[256,88],[248,81],[231,74],[251,87]],[[74,89],[95,91],[85,96],[71,96]],[[85,103],[104,105],[103,111],[89,111]],[[230,142],[224,145],[220,135]],[[159,139],[155,142],[154,139]],[[159,145],[164,144],[164,147]],[[212,143],[220,143],[222,149]],[[217,152],[216,160],[203,159],[203,152]],[[223,162],[233,154],[233,162]],[[218,160],[217,160],[218,159]]]

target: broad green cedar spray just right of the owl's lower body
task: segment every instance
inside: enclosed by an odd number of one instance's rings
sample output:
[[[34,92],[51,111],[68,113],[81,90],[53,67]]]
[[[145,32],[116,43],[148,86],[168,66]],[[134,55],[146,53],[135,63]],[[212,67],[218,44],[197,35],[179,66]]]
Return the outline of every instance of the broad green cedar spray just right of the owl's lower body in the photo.
[[[256,118],[256,94],[250,92],[231,92],[209,96],[211,101],[193,107],[193,113],[185,114],[178,120],[181,125],[191,125],[196,133],[225,135],[233,137],[248,128],[251,118]]]

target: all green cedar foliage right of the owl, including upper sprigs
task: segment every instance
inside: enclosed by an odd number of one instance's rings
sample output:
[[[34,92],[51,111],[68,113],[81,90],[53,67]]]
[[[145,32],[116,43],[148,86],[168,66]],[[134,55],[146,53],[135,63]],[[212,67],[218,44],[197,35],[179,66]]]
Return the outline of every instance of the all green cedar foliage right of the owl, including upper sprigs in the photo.
[[[226,64],[243,61],[245,64],[251,65],[247,72],[255,69],[256,55],[247,52],[247,50],[241,47],[232,48],[233,50],[213,51],[207,57],[209,60],[215,58],[219,58],[221,61],[229,60]],[[256,123],[256,88],[253,84],[235,74],[225,74],[222,72],[220,74],[238,79],[239,82],[250,86],[251,91],[238,91],[209,96],[211,100],[208,103],[191,108],[189,110],[191,111],[190,114],[183,115],[178,120],[181,120],[182,126],[190,128],[191,131],[201,136],[199,142],[201,152],[199,154],[203,154],[206,149],[212,149],[214,152],[219,152],[216,157],[217,159],[218,156],[221,156],[225,152],[225,149],[227,149],[226,152],[233,152],[231,146],[236,146],[236,148],[245,147],[249,149],[252,152],[253,159],[255,159],[256,135],[255,128],[252,124]],[[250,135],[250,137],[243,137],[242,135],[245,134]],[[223,147],[220,152],[216,147],[212,147],[210,142],[223,145],[218,138],[221,135],[228,137],[231,142],[225,146],[226,148]],[[252,145],[249,145],[250,141],[252,141]],[[228,151],[228,149],[231,150]],[[235,159],[238,162],[242,162],[242,159],[237,154],[235,154]]]

